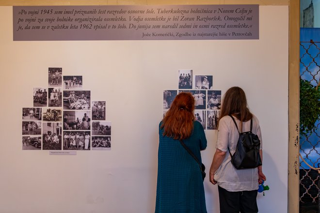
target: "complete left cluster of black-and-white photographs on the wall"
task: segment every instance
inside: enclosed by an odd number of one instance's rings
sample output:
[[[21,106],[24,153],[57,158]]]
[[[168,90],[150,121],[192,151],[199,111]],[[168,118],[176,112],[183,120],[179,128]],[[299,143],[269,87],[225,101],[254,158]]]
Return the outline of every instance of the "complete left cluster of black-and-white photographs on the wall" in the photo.
[[[48,88],[33,88],[33,107],[22,108],[22,150],[111,150],[106,102],[91,101],[82,76],[62,74],[49,67]]]

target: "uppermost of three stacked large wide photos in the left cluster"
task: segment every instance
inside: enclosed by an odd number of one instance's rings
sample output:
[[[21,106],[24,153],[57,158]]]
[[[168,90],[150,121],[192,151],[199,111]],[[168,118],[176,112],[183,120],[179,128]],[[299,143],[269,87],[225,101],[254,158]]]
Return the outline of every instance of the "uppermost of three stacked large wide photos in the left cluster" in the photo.
[[[90,109],[90,91],[64,91],[64,109]]]

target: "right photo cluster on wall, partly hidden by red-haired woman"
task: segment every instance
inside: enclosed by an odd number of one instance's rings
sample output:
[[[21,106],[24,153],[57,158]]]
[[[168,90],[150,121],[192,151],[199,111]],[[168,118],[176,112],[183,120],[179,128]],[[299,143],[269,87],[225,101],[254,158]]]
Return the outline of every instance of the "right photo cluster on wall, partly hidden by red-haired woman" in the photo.
[[[163,91],[163,117],[177,93],[190,92],[195,101],[195,120],[200,122],[205,130],[217,130],[221,108],[221,90],[214,90],[213,76],[196,75],[194,80],[192,79],[191,69],[178,71],[178,90]]]

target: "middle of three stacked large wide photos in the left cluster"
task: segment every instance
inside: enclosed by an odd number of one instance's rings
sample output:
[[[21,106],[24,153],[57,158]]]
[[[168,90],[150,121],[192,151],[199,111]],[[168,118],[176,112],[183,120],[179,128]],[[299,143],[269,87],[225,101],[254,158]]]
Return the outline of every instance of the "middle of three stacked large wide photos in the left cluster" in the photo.
[[[64,110],[64,130],[90,130],[91,111]]]

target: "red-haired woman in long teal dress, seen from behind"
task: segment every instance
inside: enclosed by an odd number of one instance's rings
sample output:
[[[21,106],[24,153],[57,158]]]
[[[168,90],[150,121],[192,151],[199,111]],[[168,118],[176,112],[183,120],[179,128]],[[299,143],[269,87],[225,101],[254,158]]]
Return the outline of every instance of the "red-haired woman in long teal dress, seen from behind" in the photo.
[[[201,123],[195,121],[194,98],[179,93],[159,124],[156,213],[207,213],[199,164],[207,139]]]

